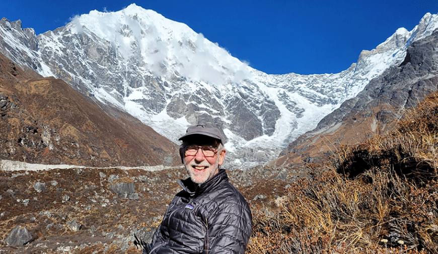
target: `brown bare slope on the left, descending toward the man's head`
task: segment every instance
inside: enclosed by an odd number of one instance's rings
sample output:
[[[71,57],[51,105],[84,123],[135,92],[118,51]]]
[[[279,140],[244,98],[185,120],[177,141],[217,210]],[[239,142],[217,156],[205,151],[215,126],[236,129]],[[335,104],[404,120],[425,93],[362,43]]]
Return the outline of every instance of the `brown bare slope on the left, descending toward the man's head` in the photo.
[[[0,158],[33,163],[172,165],[177,147],[137,119],[0,54]]]

